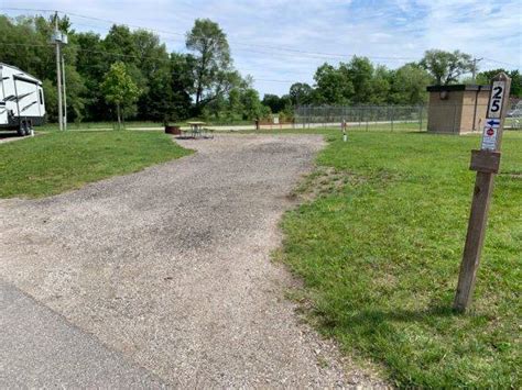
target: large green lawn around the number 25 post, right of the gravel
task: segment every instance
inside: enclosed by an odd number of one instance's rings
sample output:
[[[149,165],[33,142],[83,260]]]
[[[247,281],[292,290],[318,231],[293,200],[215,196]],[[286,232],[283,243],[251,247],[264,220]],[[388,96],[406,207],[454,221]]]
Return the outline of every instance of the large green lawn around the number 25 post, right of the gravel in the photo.
[[[327,132],[323,132],[327,133]],[[505,133],[475,302],[452,311],[478,136],[338,131],[281,258],[309,319],[401,387],[521,387],[522,133]]]

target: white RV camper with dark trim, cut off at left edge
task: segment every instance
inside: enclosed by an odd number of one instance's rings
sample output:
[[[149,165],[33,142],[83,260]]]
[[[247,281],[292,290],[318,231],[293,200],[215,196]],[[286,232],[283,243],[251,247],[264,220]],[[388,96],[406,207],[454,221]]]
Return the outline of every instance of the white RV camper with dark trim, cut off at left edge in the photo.
[[[42,81],[19,68],[0,63],[0,130],[29,135],[43,124],[45,102]]]

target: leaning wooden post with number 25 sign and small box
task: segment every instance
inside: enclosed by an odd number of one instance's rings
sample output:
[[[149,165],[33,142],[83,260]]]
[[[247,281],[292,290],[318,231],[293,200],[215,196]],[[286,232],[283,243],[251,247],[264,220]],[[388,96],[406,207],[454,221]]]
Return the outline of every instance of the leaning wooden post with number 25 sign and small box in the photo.
[[[500,167],[500,146],[505,111],[509,104],[510,87],[511,79],[504,73],[500,73],[491,80],[481,149],[471,151],[471,165],[469,169],[477,171],[477,178],[475,180],[468,233],[466,235],[463,263],[460,264],[460,274],[454,301],[454,309],[460,312],[469,308],[475,289],[475,280],[486,236],[494,175],[499,171]]]

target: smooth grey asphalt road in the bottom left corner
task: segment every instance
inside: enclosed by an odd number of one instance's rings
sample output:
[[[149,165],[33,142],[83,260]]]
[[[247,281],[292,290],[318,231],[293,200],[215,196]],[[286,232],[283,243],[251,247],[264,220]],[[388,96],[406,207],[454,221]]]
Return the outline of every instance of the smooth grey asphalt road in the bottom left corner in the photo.
[[[0,281],[0,388],[162,388],[150,372]]]

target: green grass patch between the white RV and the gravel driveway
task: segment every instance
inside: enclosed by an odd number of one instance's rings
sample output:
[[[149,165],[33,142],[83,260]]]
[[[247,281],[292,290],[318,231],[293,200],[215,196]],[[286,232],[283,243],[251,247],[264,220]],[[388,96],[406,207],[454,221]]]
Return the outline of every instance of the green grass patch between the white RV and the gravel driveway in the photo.
[[[159,132],[50,132],[0,144],[0,198],[46,197],[189,153]]]

